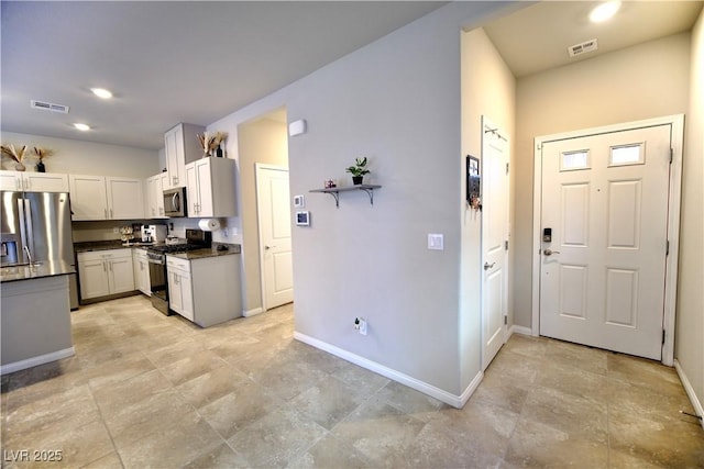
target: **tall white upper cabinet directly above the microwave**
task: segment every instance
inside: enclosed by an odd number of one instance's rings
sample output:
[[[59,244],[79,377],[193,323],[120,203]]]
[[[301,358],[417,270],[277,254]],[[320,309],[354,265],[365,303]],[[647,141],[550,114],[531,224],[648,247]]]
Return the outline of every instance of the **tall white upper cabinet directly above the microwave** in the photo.
[[[164,134],[168,172],[168,186],[164,189],[186,186],[185,166],[202,157],[204,150],[196,135],[205,131],[206,127],[200,125],[182,123]]]

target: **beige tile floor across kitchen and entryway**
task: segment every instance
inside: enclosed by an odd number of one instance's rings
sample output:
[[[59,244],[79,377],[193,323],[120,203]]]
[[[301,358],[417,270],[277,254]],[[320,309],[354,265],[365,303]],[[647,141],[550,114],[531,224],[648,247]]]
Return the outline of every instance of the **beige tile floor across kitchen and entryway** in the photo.
[[[73,327],[76,356],[2,378],[3,467],[704,467],[648,360],[514,335],[455,410],[294,340],[290,305],[201,330],[132,297]]]

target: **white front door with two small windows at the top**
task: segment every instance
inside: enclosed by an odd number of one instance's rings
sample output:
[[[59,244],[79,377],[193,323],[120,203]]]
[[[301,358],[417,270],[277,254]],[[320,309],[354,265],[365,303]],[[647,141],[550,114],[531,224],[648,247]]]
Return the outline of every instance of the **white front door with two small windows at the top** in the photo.
[[[540,335],[661,359],[670,133],[542,145]]]

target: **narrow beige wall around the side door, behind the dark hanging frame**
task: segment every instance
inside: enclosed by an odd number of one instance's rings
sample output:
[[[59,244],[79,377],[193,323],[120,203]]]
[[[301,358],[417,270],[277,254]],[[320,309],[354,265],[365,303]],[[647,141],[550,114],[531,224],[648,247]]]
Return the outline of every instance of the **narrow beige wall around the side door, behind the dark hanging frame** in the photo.
[[[486,115],[506,133],[509,139],[515,134],[516,79],[504,63],[494,44],[483,29],[462,33],[462,152],[459,171],[464,171],[464,156],[482,155],[482,115]],[[510,152],[510,148],[509,148]],[[513,152],[510,152],[513,159]],[[466,181],[462,180],[462,193]],[[481,360],[482,292],[481,268],[481,214],[463,205],[462,257],[461,257],[461,306],[460,306],[460,356],[462,361],[462,388],[470,384],[475,373],[475,364]],[[510,286],[509,286],[510,292]],[[510,304],[510,301],[509,301]],[[510,320],[509,308],[509,320]],[[513,321],[509,321],[513,323]]]

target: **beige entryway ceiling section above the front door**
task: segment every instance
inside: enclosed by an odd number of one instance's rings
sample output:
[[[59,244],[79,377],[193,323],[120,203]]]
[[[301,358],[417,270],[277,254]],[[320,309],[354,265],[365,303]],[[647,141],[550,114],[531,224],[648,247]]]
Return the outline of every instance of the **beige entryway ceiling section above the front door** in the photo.
[[[588,21],[600,1],[546,1],[484,25],[517,78],[690,31],[701,1],[624,1],[604,23]],[[598,49],[571,58],[568,47],[597,40]]]

